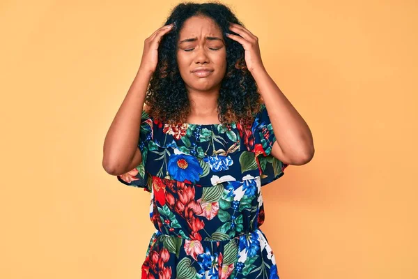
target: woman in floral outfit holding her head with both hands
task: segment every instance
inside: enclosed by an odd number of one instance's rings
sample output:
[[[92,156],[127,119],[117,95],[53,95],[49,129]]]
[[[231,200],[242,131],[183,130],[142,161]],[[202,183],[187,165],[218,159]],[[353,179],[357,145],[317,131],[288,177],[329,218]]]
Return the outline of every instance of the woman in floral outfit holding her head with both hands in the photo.
[[[104,142],[104,169],[151,195],[142,278],[279,278],[261,186],[313,155],[256,36],[222,4],[180,3]]]

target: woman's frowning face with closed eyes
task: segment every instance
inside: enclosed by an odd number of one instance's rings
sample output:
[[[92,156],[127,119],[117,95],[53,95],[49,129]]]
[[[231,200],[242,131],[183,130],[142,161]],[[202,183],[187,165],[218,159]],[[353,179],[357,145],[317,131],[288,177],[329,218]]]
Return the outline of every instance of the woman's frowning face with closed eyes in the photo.
[[[190,17],[177,42],[177,63],[187,91],[210,91],[221,86],[226,72],[226,47],[222,30],[209,17]],[[205,68],[209,72],[195,72]]]

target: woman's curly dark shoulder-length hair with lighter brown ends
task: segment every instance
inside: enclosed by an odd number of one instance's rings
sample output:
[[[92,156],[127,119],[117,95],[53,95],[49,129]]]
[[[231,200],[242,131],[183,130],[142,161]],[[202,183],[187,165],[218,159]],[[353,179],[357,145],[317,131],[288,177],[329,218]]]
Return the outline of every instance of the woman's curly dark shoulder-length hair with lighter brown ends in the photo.
[[[207,3],[184,2],[173,8],[164,24],[174,22],[173,30],[166,33],[158,48],[157,68],[146,93],[148,114],[162,123],[186,123],[190,112],[185,83],[178,69],[176,50],[180,29],[194,15],[210,17],[222,30],[226,42],[226,74],[217,100],[218,119],[221,123],[238,122],[250,125],[260,110],[261,95],[254,77],[245,63],[245,50],[240,43],[225,36],[234,33],[230,22],[244,26],[230,8],[217,1]]]

